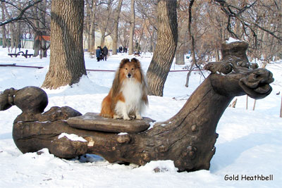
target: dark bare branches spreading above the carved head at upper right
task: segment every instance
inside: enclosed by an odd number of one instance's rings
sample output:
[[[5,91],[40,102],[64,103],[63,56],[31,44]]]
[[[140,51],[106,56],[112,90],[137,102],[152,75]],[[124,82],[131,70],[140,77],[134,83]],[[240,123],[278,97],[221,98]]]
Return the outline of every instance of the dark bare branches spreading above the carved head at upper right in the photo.
[[[265,63],[282,53],[282,1],[231,2],[214,0],[228,18],[226,30],[232,37],[247,40],[249,54]],[[264,56],[264,58],[261,58]]]

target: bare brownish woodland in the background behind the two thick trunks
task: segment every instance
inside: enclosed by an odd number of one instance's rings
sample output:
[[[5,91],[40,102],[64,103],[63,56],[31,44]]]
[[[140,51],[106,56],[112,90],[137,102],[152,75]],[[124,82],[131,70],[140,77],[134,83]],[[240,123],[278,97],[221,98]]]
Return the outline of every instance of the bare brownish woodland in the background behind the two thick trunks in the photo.
[[[102,34],[101,45],[110,35],[112,39],[118,26],[117,45],[128,46],[130,39],[130,4],[132,0],[85,0],[83,32],[88,51],[93,51],[94,30]],[[1,23],[16,18],[30,2],[1,1]],[[51,1],[41,0],[31,6],[17,22],[3,25],[1,34],[3,47],[18,46],[21,37],[37,38],[50,35]],[[224,3],[223,3],[224,2]],[[178,0],[178,46],[177,63],[183,64],[183,56],[191,49],[188,36],[188,7],[190,1]],[[195,34],[195,50],[201,60],[219,59],[221,42],[228,37],[244,39],[250,44],[249,56],[269,62],[281,58],[281,0],[264,1],[207,1],[197,0],[192,6],[192,33]],[[243,8],[245,8],[243,10]],[[135,2],[135,28],[133,51],[154,51],[157,42],[157,1]],[[239,13],[235,16],[235,13]],[[114,29],[113,29],[114,28]],[[10,44],[7,44],[8,36]],[[35,46],[37,46],[35,42]],[[113,47],[117,49],[118,46]]]

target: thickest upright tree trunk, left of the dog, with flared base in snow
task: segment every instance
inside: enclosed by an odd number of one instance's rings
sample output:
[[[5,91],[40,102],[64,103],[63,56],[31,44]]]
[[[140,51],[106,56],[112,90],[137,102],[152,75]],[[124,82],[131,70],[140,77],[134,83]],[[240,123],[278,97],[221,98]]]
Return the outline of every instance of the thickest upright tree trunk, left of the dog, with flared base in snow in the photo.
[[[56,89],[79,82],[86,75],[82,31],[84,1],[51,4],[51,57],[42,87]]]

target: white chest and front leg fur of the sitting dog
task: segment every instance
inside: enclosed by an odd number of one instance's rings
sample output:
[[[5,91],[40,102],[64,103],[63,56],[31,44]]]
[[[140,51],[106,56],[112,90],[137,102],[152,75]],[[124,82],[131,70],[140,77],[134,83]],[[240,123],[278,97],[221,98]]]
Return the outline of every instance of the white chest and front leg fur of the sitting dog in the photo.
[[[137,82],[134,78],[125,79],[123,86],[121,87],[125,103],[118,101],[116,104],[116,113],[123,115],[124,113],[129,114],[140,114],[145,107],[142,101],[142,84]]]

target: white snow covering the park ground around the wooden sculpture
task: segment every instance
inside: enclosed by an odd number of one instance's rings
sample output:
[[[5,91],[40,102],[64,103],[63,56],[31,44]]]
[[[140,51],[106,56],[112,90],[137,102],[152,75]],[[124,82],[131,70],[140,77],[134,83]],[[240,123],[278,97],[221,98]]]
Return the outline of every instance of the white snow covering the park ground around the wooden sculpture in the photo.
[[[32,51],[29,49],[32,53]],[[11,58],[7,49],[0,49],[0,64],[43,66],[18,68],[0,66],[0,91],[14,87],[40,87],[49,68],[48,58]],[[87,69],[116,70],[126,54],[110,56],[108,61],[97,62],[85,53]],[[152,55],[137,57],[143,70],[147,70]],[[186,60],[187,61],[187,60]],[[188,62],[187,62],[188,63]],[[171,70],[181,70],[183,65],[172,65]],[[103,158],[87,155],[84,160],[63,160],[43,149],[37,153],[21,153],[13,142],[13,120],[20,114],[16,106],[0,112],[0,187],[282,187],[282,118],[281,105],[282,61],[267,65],[274,73],[273,92],[258,100],[252,111],[253,99],[237,97],[236,108],[227,108],[216,132],[216,153],[210,170],[192,173],[177,173],[172,161],[152,161],[137,168],[135,165],[118,165]],[[149,96],[149,108],[144,114],[154,120],[167,120],[177,113],[188,95],[203,81],[199,73],[190,78],[190,87],[185,87],[187,72],[169,73],[164,87],[164,97]],[[207,75],[208,73],[205,72]],[[87,77],[72,87],[56,90],[45,89],[51,106],[71,106],[80,113],[99,112],[101,102],[114,78],[111,72],[87,72]],[[278,92],[280,94],[276,95]],[[173,99],[175,98],[175,99]],[[87,161],[87,162],[85,162]],[[160,173],[154,173],[159,167]],[[225,180],[237,177],[239,180]],[[243,176],[255,175],[273,180],[241,180]]]

